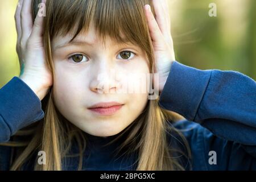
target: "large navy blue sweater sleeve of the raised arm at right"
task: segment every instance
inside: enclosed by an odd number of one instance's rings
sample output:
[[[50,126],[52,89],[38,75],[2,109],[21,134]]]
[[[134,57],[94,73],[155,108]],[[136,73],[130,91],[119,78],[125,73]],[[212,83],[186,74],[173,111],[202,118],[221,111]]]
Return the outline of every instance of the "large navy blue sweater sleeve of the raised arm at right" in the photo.
[[[202,71],[175,61],[159,105],[256,156],[256,82],[233,71]]]

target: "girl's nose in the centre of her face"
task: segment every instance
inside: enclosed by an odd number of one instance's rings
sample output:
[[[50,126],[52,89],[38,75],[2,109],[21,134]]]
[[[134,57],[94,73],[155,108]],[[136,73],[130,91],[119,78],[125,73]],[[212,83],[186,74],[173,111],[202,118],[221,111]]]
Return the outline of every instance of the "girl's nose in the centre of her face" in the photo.
[[[100,94],[117,92],[119,81],[114,63],[110,63],[108,60],[98,61],[97,64],[93,65],[91,74],[93,74],[93,79],[90,82],[92,92]]]

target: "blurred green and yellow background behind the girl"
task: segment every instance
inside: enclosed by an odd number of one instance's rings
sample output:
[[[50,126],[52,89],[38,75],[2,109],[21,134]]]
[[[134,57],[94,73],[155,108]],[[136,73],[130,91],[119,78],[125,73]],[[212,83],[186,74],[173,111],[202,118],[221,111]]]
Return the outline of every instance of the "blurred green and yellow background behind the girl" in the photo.
[[[176,60],[199,69],[238,71],[256,80],[255,0],[168,1]],[[20,71],[15,51],[17,2],[0,1],[0,88]],[[216,3],[216,17],[208,14],[210,3]]]

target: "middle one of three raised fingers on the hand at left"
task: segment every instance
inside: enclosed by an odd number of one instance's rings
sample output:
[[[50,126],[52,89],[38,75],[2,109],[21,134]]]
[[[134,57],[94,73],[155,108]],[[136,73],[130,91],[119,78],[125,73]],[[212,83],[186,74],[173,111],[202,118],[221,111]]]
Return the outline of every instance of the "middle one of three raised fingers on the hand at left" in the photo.
[[[31,1],[24,0],[22,10],[20,13],[21,27],[22,27],[22,39],[27,40],[32,30],[32,12],[31,12]]]

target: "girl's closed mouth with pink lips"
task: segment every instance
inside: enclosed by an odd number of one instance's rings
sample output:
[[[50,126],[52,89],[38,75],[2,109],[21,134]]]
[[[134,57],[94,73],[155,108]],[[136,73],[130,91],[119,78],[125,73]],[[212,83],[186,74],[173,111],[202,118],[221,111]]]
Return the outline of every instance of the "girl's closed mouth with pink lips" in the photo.
[[[124,104],[120,104],[118,102],[100,102],[88,107],[88,109],[93,113],[108,116],[117,113],[123,105]]]

